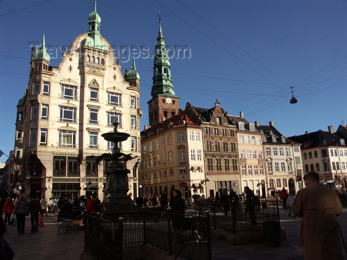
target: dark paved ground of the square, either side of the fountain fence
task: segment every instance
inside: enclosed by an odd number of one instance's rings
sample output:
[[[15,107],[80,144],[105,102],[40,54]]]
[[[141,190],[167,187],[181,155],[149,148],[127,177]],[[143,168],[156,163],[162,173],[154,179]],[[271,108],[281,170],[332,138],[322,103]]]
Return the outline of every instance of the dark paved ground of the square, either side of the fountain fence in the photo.
[[[344,239],[347,242],[347,208],[338,217]],[[287,240],[276,248],[264,243],[233,246],[212,240],[213,260],[303,260],[303,246],[299,244],[301,218],[289,217],[287,210],[280,208],[281,228]],[[25,233],[18,235],[16,228],[7,226],[4,238],[12,247],[14,260],[79,260],[84,249],[84,232],[59,234],[57,217],[44,217],[44,227],[38,233],[30,233],[30,218],[26,218]],[[344,259],[347,255],[343,249]],[[127,260],[124,258],[124,260]]]

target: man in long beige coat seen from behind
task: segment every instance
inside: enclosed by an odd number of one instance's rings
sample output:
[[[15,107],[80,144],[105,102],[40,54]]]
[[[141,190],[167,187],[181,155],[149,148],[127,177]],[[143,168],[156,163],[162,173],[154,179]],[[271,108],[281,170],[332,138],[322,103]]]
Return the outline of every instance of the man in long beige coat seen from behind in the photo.
[[[336,191],[319,183],[318,173],[304,176],[306,188],[296,194],[292,212],[302,217],[300,243],[305,260],[343,259],[336,216],[342,205]]]

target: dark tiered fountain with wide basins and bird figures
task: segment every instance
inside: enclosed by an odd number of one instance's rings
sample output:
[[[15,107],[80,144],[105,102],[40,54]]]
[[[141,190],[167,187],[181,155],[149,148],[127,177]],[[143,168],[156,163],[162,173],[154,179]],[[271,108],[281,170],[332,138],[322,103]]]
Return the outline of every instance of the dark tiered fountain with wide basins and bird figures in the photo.
[[[98,164],[101,160],[110,163],[106,172],[107,181],[106,189],[104,190],[104,192],[107,192],[107,196],[102,203],[104,211],[123,211],[132,208],[131,198],[127,195],[127,192],[129,191],[128,173],[130,173],[130,170],[126,168],[126,162],[138,156],[132,157],[132,154],[126,155],[120,153],[118,142],[127,140],[130,135],[118,132],[118,124],[119,123],[114,123],[114,132],[104,133],[101,135],[106,141],[115,143],[115,147],[112,149],[112,154],[105,153],[101,156],[95,157]]]

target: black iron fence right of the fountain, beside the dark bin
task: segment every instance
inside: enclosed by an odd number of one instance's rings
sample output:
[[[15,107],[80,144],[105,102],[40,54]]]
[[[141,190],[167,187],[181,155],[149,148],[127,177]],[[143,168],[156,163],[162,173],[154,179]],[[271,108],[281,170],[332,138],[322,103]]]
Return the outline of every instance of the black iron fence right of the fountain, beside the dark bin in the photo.
[[[199,202],[200,210],[210,211],[211,227],[229,232],[263,230],[264,220],[279,220],[278,200]]]

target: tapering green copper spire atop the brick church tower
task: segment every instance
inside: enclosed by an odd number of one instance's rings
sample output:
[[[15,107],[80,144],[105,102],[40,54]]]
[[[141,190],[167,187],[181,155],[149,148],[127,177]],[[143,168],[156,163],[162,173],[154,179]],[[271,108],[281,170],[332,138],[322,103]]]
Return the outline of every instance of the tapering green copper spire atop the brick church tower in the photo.
[[[159,23],[159,33],[154,57],[153,86],[151,96],[174,96],[170,60],[163,37],[162,25]]]

